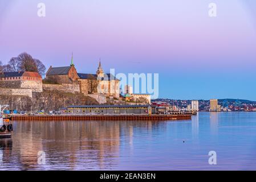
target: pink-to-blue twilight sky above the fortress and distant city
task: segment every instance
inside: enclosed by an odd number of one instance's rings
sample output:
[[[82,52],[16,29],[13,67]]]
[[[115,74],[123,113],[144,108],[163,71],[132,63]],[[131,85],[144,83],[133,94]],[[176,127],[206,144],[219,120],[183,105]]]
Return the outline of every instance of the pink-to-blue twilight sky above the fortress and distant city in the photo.
[[[37,15],[39,2],[46,17]],[[159,73],[159,98],[256,101],[256,1],[0,0],[0,61]]]

